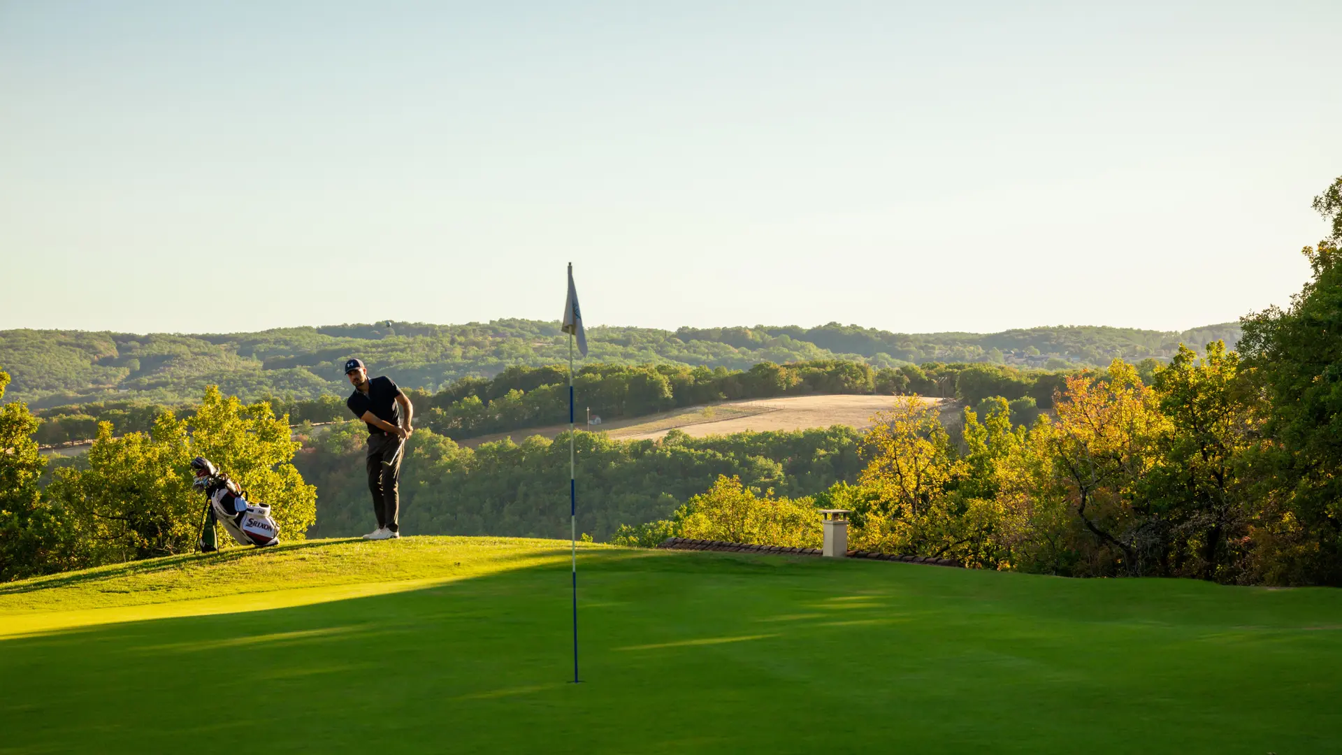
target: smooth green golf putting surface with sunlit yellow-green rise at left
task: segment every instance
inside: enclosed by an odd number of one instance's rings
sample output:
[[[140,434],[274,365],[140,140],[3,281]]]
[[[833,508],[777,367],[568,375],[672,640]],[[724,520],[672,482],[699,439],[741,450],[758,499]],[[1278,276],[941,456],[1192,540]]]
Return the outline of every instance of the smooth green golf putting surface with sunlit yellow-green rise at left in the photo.
[[[1342,750],[1342,592],[314,541],[0,586],[0,752]]]

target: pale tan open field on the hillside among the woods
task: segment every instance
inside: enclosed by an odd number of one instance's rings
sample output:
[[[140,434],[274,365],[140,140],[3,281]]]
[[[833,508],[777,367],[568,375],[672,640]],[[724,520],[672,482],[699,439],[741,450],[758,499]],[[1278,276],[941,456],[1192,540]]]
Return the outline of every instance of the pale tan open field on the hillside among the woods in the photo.
[[[871,415],[888,410],[894,404],[894,396],[854,394],[743,399],[684,407],[650,416],[617,419],[588,427],[588,430],[605,433],[619,441],[641,441],[660,438],[668,430],[682,430],[695,438],[703,438],[706,435],[727,435],[745,430],[809,430],[812,427],[829,427],[832,425],[848,425],[863,429],[871,426]],[[922,400],[935,402],[938,399]],[[578,411],[578,420],[582,420],[581,408]],[[470,438],[462,441],[462,445],[475,447],[480,443],[507,437],[511,437],[514,441],[529,435],[554,438],[568,429],[568,425],[552,425],[549,427],[513,430],[495,435]]]

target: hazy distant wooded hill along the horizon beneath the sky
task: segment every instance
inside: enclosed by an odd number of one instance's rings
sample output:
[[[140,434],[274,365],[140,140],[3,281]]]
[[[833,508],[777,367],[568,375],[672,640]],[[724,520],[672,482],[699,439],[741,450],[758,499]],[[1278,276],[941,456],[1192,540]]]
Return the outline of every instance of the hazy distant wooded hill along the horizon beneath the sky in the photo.
[[[1172,356],[1239,341],[1237,322],[1192,330],[1056,326],[1001,333],[891,333],[831,322],[817,328],[592,328],[588,361],[670,363],[747,369],[761,361],[845,359],[872,367],[929,361],[1001,363],[1062,368]],[[13,378],[5,400],[34,408],[95,400],[181,404],[205,386],[246,400],[313,399],[344,392],[341,364],[357,356],[373,373],[405,387],[436,391],[459,378],[493,378],[507,367],[564,363],[558,322],[380,322],[282,328],[260,333],[133,335],[86,330],[0,330],[0,369]]]

